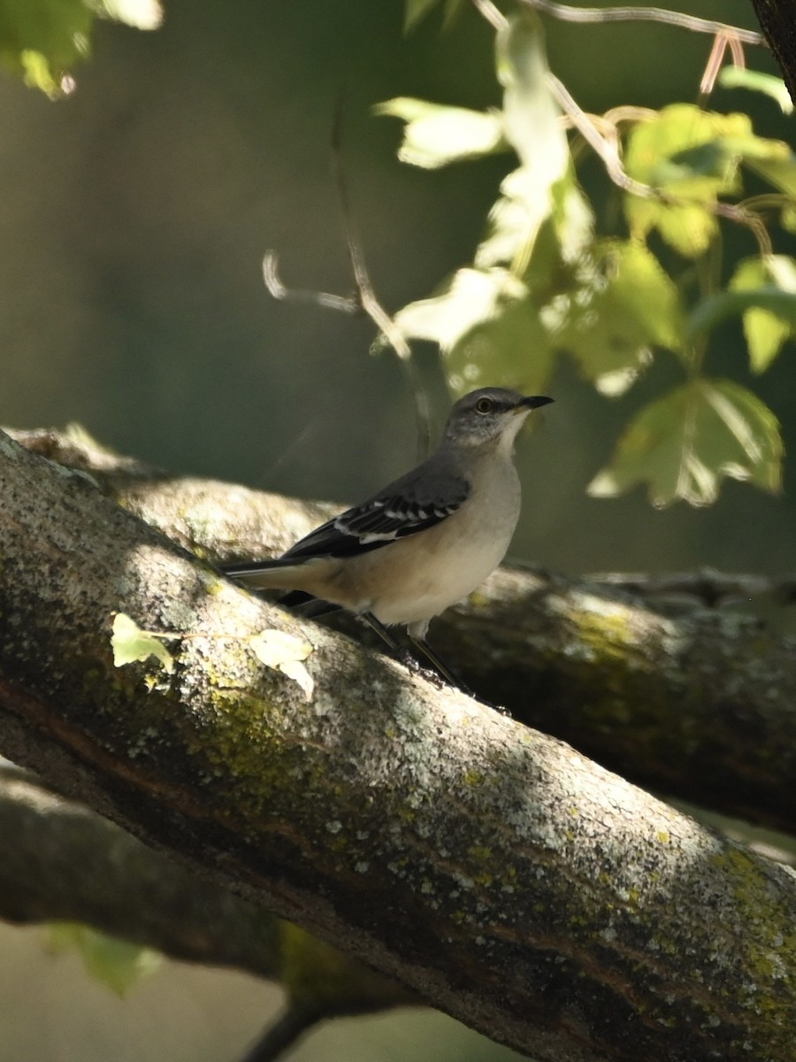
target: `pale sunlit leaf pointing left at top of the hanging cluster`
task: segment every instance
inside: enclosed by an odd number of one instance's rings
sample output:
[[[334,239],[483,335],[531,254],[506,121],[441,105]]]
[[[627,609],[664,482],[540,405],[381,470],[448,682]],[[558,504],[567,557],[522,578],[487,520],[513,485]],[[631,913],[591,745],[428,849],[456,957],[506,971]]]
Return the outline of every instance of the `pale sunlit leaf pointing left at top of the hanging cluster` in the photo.
[[[427,170],[503,150],[500,117],[465,107],[446,107],[410,97],[378,103],[374,114],[406,122],[398,158]]]

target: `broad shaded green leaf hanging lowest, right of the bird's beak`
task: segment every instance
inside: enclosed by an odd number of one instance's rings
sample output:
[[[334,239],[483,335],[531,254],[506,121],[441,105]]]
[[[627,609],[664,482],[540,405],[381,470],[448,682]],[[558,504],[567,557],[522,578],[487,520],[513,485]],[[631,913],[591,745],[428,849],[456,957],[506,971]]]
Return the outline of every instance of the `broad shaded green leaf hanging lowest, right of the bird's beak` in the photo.
[[[655,506],[677,498],[706,506],[715,501],[726,476],[778,491],[781,464],[782,441],[772,411],[731,380],[697,379],[634,417],[589,494],[616,497],[645,482]]]

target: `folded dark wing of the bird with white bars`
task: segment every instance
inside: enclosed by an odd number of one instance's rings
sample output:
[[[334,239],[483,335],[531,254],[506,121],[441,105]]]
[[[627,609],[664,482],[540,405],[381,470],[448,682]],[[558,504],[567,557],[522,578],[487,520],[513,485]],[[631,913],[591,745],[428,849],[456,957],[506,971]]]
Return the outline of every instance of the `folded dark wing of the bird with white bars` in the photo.
[[[354,556],[426,531],[462,506],[470,484],[447,469],[428,462],[396,480],[360,506],[311,531],[279,561],[312,556]]]

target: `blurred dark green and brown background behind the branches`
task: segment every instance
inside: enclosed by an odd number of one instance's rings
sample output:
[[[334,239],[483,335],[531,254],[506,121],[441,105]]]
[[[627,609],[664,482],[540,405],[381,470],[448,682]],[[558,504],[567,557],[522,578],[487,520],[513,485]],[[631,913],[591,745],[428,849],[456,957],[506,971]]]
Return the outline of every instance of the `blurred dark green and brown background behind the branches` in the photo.
[[[745,0],[682,7],[754,25]],[[91,61],[74,69],[65,99],[2,75],[0,423],[77,421],[174,473],[339,501],[403,472],[415,458],[412,399],[395,358],[368,354],[370,323],[276,303],[261,277],[274,247],[287,284],[352,288],[330,177],[343,89],[354,221],[383,305],[395,311],[427,296],[469,260],[505,159],[433,173],[402,166],[399,123],[370,107],[398,96],[498,106],[492,33],[468,4],[446,29],[438,12],[409,37],[402,22],[402,0],[169,0],[154,33],[96,23]],[[709,37],[652,23],[546,20],[546,31],[552,69],[591,112],[695,100],[710,48]],[[762,49],[749,59],[775,72]],[[748,110],[761,135],[793,142],[794,119],[769,100],[719,89],[713,105]],[[581,175],[588,190],[598,164]],[[743,232],[727,241],[738,255],[754,253]],[[776,250],[794,251],[781,241]],[[417,357],[439,425],[449,398],[438,357],[430,345]],[[792,358],[790,346],[754,382],[786,450],[796,444]],[[721,326],[710,366],[748,381],[738,321]],[[674,370],[660,356],[625,396],[607,399],[561,363],[549,389],[556,405],[519,442],[517,558],[568,573],[793,567],[788,460],[779,497],[736,482],[709,509],[656,511],[642,489],[619,500],[586,496],[630,411],[674,383]],[[76,966],[58,965],[48,987],[42,964],[69,960],[42,958],[40,937],[2,937],[0,1062],[111,1051],[232,1059],[276,998],[245,978],[169,964],[117,1006]],[[344,1026],[350,1039],[340,1040]],[[295,1058],[507,1057],[454,1028],[414,1012],[340,1023]]]

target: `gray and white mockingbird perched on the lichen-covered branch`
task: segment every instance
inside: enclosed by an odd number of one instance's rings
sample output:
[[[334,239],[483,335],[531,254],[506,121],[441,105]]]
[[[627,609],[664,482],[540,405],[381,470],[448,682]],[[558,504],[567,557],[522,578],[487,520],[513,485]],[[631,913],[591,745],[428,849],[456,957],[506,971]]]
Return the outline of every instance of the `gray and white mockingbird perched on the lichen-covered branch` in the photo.
[[[502,388],[470,392],[451,410],[439,446],[422,464],[281,556],[224,570],[258,588],[291,590],[282,603],[302,605],[307,615],[347,609],[394,650],[386,628],[403,623],[455,685],[426,641],[429,622],[505,556],[520,512],[514,441],[531,410],[552,400]]]

